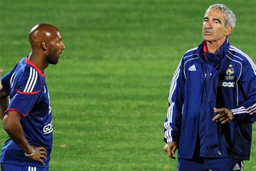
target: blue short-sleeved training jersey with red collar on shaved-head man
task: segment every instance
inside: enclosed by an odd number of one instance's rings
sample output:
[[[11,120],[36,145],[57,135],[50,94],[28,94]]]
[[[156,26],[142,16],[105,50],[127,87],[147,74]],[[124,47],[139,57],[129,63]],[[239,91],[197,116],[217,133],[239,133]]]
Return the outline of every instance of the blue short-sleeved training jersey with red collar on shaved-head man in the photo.
[[[49,167],[53,146],[53,122],[45,74],[24,57],[11,72],[2,77],[2,89],[10,96],[6,112],[16,111],[22,115],[20,123],[25,138],[32,146],[46,148],[47,159],[43,160],[45,165],[33,161],[9,139],[2,148],[0,162]]]

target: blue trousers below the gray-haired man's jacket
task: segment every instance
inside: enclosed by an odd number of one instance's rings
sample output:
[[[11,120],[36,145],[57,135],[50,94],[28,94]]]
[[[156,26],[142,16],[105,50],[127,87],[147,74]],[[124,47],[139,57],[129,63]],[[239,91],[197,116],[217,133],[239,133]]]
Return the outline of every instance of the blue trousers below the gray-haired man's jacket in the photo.
[[[243,171],[243,161],[233,158],[202,158],[179,159],[177,168],[179,171]]]

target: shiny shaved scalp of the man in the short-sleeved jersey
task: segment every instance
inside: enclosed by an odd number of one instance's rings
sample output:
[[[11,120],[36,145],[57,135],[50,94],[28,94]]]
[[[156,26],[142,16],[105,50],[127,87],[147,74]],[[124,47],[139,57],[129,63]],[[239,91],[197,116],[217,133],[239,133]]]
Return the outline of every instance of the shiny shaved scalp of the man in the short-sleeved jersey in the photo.
[[[29,33],[29,41],[32,48],[40,45],[42,41],[51,41],[55,38],[61,38],[59,29],[46,23],[35,25]]]

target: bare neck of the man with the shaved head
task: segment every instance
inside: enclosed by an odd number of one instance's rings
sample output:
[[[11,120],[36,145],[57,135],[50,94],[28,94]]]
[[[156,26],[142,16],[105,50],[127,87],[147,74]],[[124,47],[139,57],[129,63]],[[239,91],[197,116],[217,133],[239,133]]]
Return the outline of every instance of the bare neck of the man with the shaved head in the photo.
[[[45,56],[43,56],[43,54],[35,52],[33,50],[30,52],[28,60],[35,64],[36,67],[41,70],[41,72],[44,72],[46,67],[48,67],[49,65],[48,62],[46,62]]]

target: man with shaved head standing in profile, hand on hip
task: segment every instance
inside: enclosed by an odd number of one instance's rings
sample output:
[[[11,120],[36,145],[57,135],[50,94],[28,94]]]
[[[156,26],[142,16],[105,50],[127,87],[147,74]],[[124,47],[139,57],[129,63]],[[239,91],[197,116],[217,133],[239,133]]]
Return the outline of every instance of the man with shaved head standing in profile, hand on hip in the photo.
[[[58,63],[65,46],[58,28],[49,24],[35,25],[29,41],[29,56],[1,79],[0,117],[10,136],[2,148],[2,170],[49,169],[53,122],[44,72]]]

